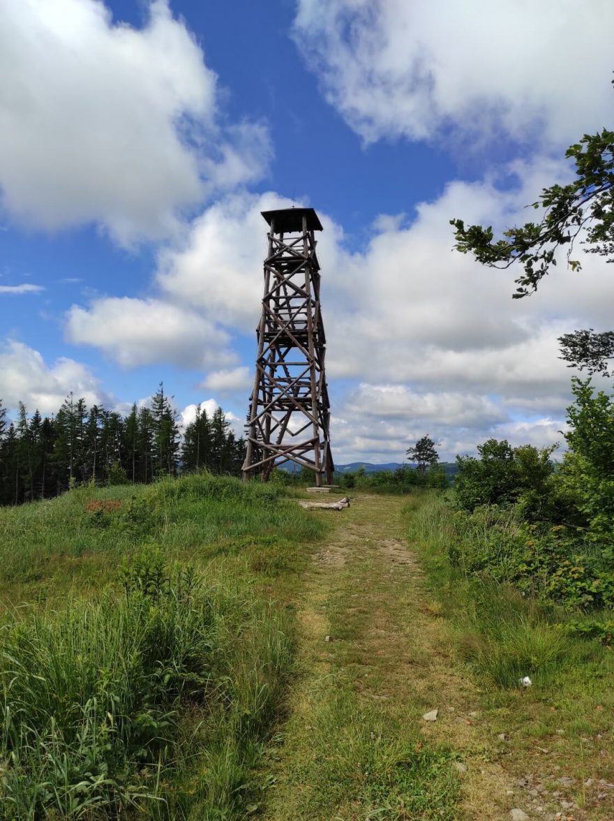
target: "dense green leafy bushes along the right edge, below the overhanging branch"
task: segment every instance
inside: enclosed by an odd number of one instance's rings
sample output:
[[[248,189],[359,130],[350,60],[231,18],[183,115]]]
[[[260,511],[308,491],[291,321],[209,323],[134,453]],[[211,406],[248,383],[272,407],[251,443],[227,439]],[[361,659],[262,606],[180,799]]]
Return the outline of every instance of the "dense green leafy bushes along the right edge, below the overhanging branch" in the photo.
[[[488,440],[458,457],[451,562],[568,609],[614,605],[614,401],[574,379],[569,451]]]

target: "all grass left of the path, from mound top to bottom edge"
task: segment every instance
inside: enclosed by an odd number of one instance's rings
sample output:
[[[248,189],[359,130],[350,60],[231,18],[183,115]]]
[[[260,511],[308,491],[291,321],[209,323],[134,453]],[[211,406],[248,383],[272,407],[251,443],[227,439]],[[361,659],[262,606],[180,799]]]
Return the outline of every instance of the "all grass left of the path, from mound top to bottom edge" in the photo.
[[[243,817],[291,672],[286,591],[326,525],[208,475],[0,522],[2,818]]]

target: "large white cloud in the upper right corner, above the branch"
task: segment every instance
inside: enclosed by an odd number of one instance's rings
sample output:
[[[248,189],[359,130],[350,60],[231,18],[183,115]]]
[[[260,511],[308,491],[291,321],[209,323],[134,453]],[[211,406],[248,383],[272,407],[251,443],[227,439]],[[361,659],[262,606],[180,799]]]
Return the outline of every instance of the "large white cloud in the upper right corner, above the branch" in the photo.
[[[610,0],[299,0],[294,39],[368,142],[452,130],[560,144],[612,112],[613,29]]]

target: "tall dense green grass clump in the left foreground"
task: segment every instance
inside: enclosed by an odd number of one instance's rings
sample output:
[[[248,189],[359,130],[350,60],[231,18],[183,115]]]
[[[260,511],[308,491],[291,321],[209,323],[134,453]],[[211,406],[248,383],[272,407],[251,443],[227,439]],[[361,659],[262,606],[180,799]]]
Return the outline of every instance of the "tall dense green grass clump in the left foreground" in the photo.
[[[2,817],[233,817],[291,661],[284,617],[245,576],[145,553],[122,593],[14,612],[0,634]]]

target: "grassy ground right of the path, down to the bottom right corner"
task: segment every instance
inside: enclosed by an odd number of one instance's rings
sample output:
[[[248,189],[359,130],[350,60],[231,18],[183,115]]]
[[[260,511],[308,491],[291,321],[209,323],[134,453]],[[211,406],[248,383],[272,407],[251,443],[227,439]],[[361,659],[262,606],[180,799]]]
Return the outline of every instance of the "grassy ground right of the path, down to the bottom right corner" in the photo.
[[[561,809],[559,799],[548,798],[558,793],[575,802],[576,819],[614,817],[612,791],[598,787],[614,772],[612,727],[605,718],[614,709],[607,684],[614,675],[612,650],[570,633],[580,614],[451,566],[451,548],[465,535],[445,498],[414,502],[406,521],[449,642],[481,690],[488,758],[511,782],[525,784],[519,793],[529,814],[536,801],[527,793],[543,782],[543,811]],[[532,681],[528,688],[520,684],[525,676]],[[497,747],[492,740],[501,733],[506,741]],[[562,776],[570,784],[561,787]]]

